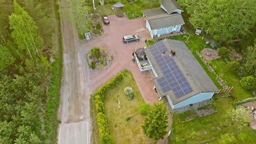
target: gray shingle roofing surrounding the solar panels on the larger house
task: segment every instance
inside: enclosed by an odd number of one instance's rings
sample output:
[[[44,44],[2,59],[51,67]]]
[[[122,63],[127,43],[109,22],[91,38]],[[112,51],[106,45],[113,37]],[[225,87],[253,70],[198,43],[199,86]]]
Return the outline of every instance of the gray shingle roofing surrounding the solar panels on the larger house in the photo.
[[[147,49],[145,49],[145,52],[156,74],[158,75],[158,77],[153,79],[153,83],[160,97],[168,95],[173,105],[175,105],[199,93],[219,92],[219,89],[214,85],[210,77],[206,74],[205,70],[202,69],[199,62],[197,62],[183,41],[164,39],[158,43],[163,43],[166,46],[167,52],[165,52],[165,55],[170,55],[171,50],[176,51],[176,55],[173,56],[173,59],[177,63],[179,69],[182,71],[184,77],[189,82],[190,87],[193,89],[192,92],[179,98],[174,95],[172,90],[166,93],[162,92],[162,89],[158,83],[158,79],[164,76],[164,74],[162,73],[158,62],[154,58],[153,53],[150,51],[149,46]]]

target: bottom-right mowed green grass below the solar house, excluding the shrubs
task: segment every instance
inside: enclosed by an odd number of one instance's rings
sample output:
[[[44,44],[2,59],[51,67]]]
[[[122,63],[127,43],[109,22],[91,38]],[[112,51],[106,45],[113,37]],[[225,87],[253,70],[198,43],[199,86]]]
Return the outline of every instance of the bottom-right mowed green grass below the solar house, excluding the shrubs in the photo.
[[[219,143],[221,134],[229,133],[234,134],[236,137],[236,142],[234,143],[254,143],[256,141],[255,136],[253,135],[253,129],[250,127],[243,128],[242,130],[238,130],[236,127],[228,125],[225,127],[224,125],[221,127],[221,130],[218,130],[217,127],[220,123],[226,121],[226,111],[228,109],[234,109],[232,106],[232,98],[221,98],[214,102],[214,106],[216,106],[218,112],[212,113],[211,115],[199,117],[193,119],[191,121],[185,123],[179,123],[176,115],[173,116],[173,133],[171,134],[169,143],[175,143],[176,137],[179,137],[181,140],[179,143],[185,143],[182,139],[186,139],[187,143]],[[212,131],[211,128],[216,128],[216,131]],[[194,136],[190,138],[190,133],[192,131],[199,132],[200,136]],[[207,131],[207,135],[203,134],[203,131]],[[238,140],[237,134],[239,133],[247,134],[245,142]]]

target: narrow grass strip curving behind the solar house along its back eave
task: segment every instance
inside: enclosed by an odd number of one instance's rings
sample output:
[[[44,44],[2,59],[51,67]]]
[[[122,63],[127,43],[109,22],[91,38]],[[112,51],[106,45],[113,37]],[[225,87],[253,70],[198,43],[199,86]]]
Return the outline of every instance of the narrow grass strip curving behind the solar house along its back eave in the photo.
[[[185,43],[185,41],[187,40],[187,38],[184,37],[185,35],[187,35],[187,37],[189,37],[189,34],[182,34],[182,35],[175,35],[175,36],[167,37],[167,39],[182,40]],[[159,39],[159,40],[161,40],[161,39]],[[208,70],[206,65],[201,61],[201,58],[196,53],[196,51],[200,52],[204,48],[205,41],[202,40],[198,35],[190,34],[190,38],[189,38],[188,42],[189,43],[185,43],[185,44],[188,46],[189,50],[193,53],[196,60],[200,63],[202,68],[205,70],[205,72],[208,74],[208,76],[212,79],[212,81],[218,87],[218,89],[222,89],[222,86],[220,86],[220,84],[216,80],[216,75],[211,73],[210,70]]]

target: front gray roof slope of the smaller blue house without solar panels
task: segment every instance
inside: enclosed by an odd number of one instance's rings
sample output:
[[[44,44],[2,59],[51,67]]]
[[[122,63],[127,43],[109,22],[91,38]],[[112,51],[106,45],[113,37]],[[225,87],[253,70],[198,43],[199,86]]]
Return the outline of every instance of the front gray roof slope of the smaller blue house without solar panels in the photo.
[[[179,13],[170,15],[153,15],[149,17],[144,17],[144,19],[148,20],[151,29],[165,28],[185,24],[182,15]]]

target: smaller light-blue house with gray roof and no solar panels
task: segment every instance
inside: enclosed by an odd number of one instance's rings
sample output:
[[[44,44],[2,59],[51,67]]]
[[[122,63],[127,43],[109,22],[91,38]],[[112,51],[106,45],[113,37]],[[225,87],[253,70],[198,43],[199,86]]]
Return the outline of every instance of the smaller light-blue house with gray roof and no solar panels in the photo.
[[[150,36],[179,32],[184,25],[183,9],[175,0],[160,0],[160,8],[142,10]]]

